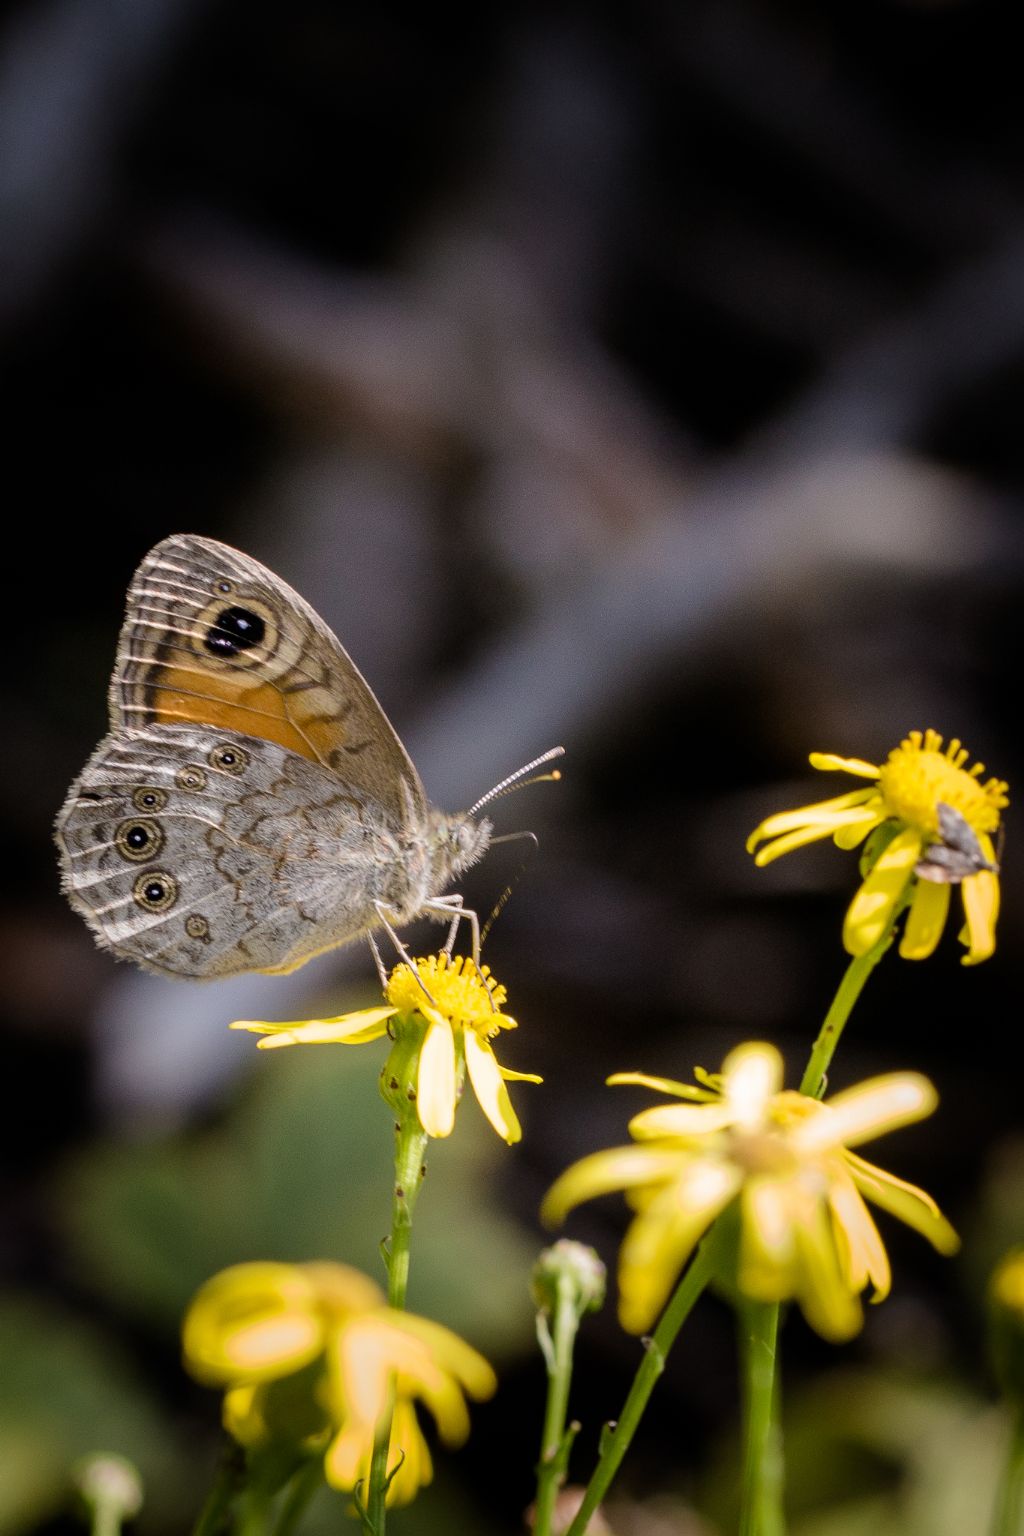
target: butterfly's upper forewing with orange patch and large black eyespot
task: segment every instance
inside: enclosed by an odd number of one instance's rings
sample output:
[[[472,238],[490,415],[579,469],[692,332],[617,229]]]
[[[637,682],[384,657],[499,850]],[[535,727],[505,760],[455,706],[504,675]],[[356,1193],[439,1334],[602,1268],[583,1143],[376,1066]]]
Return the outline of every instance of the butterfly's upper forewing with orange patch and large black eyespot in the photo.
[[[127,593],[111,731],[203,723],[263,737],[338,774],[398,822],[422,820],[419,776],[318,613],[273,571],[180,533]]]

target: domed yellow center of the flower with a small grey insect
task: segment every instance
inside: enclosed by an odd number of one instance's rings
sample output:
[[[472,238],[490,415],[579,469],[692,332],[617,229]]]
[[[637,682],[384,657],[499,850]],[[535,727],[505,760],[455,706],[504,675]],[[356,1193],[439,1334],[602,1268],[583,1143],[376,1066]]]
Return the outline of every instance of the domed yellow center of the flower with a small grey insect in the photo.
[[[897,820],[938,836],[938,806],[949,805],[975,833],[993,833],[999,811],[1009,805],[1001,779],[981,783],[984,763],[964,768],[969,753],[953,739],[943,751],[938,731],[910,731],[895,746],[878,774],[886,808]]]

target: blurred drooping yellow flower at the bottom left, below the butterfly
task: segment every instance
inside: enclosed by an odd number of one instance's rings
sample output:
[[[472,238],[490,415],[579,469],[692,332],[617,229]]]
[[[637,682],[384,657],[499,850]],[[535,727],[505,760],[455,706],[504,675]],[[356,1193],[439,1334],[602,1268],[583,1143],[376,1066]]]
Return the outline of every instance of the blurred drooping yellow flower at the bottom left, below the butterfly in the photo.
[[[447,1445],[470,1432],[465,1396],[490,1398],[491,1367],[457,1335],[396,1312],[345,1264],[235,1264],[209,1279],[184,1319],[184,1361],[224,1387],[224,1425],[239,1444],[284,1436],[324,1452],[335,1488],[370,1475],[393,1393],[388,1504],[408,1504],[433,1478],[416,1418],[424,1402]]]

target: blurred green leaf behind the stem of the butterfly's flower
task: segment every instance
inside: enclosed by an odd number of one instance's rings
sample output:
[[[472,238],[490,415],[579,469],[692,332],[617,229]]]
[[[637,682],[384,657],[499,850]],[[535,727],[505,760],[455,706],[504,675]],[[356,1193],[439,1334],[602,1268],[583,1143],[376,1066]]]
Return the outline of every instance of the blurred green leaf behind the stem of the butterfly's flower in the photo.
[[[118,1307],[178,1329],[198,1286],[243,1260],[339,1260],[384,1283],[393,1120],[373,1046],[261,1052],[216,1130],[106,1146],[61,1184],[74,1256]],[[484,1353],[525,1347],[534,1240],[500,1209],[513,1158],[467,1095],[448,1141],[430,1143],[416,1207],[410,1310]]]

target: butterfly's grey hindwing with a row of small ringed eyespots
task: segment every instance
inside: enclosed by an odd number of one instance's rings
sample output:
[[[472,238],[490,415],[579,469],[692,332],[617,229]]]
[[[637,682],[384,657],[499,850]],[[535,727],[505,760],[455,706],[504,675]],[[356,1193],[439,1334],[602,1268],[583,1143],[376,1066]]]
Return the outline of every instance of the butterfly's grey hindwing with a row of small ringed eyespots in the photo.
[[[372,928],[375,900],[416,905],[425,879],[356,786],[206,725],[107,736],[57,843],[64,891],[100,945],[169,975],[290,971]]]

